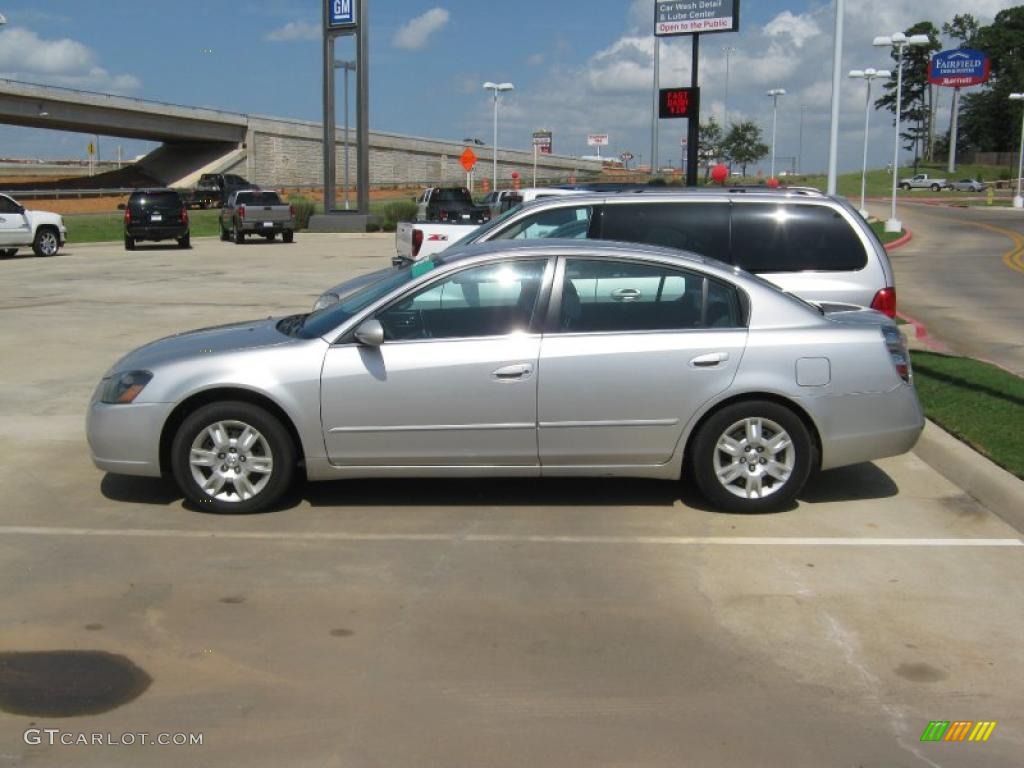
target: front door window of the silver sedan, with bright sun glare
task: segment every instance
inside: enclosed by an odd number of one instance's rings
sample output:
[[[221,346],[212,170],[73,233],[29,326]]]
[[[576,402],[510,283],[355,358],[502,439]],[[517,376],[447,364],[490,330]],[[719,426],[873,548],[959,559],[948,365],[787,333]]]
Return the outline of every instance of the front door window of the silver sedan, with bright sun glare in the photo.
[[[504,336],[526,331],[546,259],[464,269],[377,315],[388,340]]]

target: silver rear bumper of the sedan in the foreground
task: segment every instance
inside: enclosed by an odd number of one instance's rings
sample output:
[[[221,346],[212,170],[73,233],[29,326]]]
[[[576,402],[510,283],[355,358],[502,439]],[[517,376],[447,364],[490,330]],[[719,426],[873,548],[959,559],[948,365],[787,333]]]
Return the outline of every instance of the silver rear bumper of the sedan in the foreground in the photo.
[[[925,428],[913,387],[823,397],[815,403],[821,432],[821,469],[907,453]]]

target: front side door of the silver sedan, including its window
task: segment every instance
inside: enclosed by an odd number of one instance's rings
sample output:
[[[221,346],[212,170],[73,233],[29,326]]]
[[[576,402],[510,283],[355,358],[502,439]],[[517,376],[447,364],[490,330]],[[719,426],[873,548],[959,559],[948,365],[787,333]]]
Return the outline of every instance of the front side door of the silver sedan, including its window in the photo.
[[[531,322],[548,268],[537,258],[468,267],[379,311],[380,347],[332,346],[321,406],[330,461],[536,468]]]

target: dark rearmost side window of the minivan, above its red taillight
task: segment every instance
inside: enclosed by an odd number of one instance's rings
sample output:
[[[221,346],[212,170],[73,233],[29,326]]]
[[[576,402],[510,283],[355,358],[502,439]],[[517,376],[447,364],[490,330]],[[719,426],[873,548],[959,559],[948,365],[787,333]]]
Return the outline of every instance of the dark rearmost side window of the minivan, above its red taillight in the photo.
[[[732,261],[752,272],[840,271],[862,269],[867,254],[831,208],[736,203]]]

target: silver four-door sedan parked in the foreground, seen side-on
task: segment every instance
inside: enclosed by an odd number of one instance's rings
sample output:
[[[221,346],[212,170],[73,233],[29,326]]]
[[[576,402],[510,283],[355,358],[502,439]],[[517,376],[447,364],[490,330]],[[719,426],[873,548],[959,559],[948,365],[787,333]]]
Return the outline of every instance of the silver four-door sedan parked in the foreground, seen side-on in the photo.
[[[342,477],[632,476],[716,507],[792,503],[811,472],[908,451],[903,339],[680,251],[471,246],[364,275],[310,314],[171,336],[89,406],[95,465],[173,474],[204,509]]]

